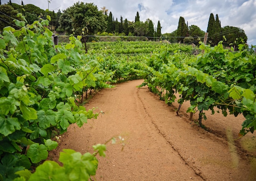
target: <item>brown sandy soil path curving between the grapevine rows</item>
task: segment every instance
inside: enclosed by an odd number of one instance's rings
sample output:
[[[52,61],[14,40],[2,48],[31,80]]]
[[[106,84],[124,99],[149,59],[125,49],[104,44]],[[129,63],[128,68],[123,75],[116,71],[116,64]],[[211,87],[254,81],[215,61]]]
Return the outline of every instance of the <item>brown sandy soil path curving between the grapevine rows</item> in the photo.
[[[256,134],[234,140],[243,116],[207,113],[205,130],[189,121],[189,104],[177,116],[177,102],[167,106],[147,87],[136,87],[142,82],[129,81],[96,93],[85,106],[98,107],[104,115],[88,120],[83,128],[70,126],[52,156],[58,158],[64,148],[93,152],[92,145],[121,136],[124,150],[119,141],[108,143],[106,157],[98,157],[94,180],[255,180]]]

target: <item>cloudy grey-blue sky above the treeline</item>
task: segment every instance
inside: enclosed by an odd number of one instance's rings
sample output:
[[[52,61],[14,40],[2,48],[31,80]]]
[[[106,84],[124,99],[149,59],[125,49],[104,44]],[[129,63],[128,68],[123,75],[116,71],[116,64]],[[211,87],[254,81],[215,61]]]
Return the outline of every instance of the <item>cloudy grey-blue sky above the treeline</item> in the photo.
[[[49,0],[49,9],[55,12],[65,10],[78,0]],[[2,4],[9,0],[1,0]],[[21,4],[21,0],[11,0]],[[177,29],[180,16],[189,25],[195,24],[203,31],[207,30],[210,13],[218,14],[221,26],[235,26],[243,29],[249,45],[256,45],[256,0],[80,0],[93,2],[99,10],[106,7],[114,18],[120,16],[129,21],[135,20],[137,11],[140,20],[147,18],[157,26],[160,20],[162,33],[171,33]],[[23,0],[24,4],[34,4],[48,9],[48,0]]]

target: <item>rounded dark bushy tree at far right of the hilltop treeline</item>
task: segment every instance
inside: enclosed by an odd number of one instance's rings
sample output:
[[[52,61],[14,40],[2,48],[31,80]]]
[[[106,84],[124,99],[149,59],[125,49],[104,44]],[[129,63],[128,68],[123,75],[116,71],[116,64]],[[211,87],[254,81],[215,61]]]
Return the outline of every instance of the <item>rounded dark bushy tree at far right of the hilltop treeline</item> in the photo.
[[[226,46],[236,46],[238,44],[247,42],[247,35],[243,29],[234,26],[224,26],[221,31],[223,32],[222,35],[225,35],[226,40],[223,42]]]

